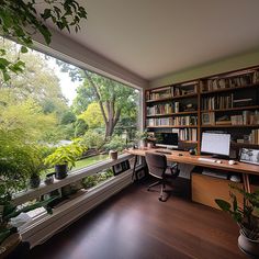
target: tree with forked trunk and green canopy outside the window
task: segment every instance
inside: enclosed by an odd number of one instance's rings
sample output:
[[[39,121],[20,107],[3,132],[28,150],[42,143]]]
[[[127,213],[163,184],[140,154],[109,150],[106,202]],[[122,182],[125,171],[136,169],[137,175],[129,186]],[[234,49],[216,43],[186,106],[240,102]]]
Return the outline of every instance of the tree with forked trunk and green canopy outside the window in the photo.
[[[105,125],[105,139],[112,136],[115,126],[123,117],[135,117],[136,121],[137,90],[63,61],[58,61],[58,65],[61,71],[69,72],[72,80],[83,81],[72,103],[77,114],[85,114],[89,103],[93,101],[99,104]]]

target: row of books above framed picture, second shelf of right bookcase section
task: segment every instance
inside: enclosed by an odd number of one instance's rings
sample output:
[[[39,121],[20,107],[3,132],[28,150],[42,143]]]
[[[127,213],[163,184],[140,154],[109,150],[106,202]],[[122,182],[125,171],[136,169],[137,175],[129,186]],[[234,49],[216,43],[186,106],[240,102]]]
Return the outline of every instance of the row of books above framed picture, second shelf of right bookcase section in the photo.
[[[228,109],[233,108],[233,93],[224,97],[209,97],[202,99],[203,110]]]

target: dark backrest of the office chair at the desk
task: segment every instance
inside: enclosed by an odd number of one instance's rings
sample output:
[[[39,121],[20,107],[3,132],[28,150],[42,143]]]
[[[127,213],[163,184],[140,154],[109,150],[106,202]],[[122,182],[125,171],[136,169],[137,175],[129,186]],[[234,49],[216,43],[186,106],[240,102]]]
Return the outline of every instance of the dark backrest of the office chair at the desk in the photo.
[[[149,173],[162,179],[167,169],[167,157],[162,154],[146,153],[145,158]]]

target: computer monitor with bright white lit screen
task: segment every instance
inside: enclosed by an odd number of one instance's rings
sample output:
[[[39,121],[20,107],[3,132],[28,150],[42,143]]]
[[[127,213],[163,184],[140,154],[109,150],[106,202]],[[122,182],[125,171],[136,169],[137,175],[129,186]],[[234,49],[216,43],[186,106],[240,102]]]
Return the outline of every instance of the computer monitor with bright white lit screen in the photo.
[[[214,156],[229,156],[230,134],[202,133],[202,153]]]

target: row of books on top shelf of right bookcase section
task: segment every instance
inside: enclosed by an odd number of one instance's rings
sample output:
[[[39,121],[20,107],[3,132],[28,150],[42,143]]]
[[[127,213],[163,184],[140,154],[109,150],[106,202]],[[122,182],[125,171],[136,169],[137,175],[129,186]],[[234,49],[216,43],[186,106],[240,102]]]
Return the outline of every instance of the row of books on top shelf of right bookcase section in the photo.
[[[217,77],[204,80],[201,83],[201,89],[202,91],[213,91],[217,89],[244,87],[258,82],[259,82],[259,71],[245,70],[229,74],[228,76],[223,78]]]

